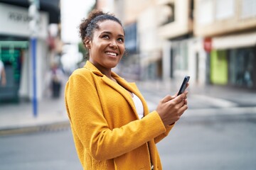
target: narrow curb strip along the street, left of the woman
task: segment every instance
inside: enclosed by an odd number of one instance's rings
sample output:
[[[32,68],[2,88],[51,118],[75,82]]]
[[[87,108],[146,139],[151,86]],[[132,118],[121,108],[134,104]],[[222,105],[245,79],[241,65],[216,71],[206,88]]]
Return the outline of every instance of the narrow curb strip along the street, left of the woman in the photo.
[[[3,129],[0,129],[0,137],[9,136],[9,135],[18,135],[18,134],[29,134],[34,132],[55,132],[55,131],[68,130],[68,129],[70,129],[69,121],[49,123],[44,125],[3,128]]]

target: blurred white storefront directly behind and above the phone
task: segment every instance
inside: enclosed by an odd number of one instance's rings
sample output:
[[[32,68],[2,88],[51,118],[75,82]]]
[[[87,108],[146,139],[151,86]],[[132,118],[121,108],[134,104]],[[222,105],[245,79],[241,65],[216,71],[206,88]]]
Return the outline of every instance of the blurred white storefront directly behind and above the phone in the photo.
[[[207,84],[207,52],[203,49],[202,38],[187,38],[169,41],[163,47],[164,79],[191,77],[190,84]]]

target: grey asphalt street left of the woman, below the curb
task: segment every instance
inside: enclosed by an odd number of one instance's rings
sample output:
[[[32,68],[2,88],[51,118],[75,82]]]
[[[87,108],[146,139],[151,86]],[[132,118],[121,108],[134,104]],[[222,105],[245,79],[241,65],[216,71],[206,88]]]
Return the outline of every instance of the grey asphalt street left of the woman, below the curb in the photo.
[[[82,169],[70,130],[0,137],[1,170]]]

